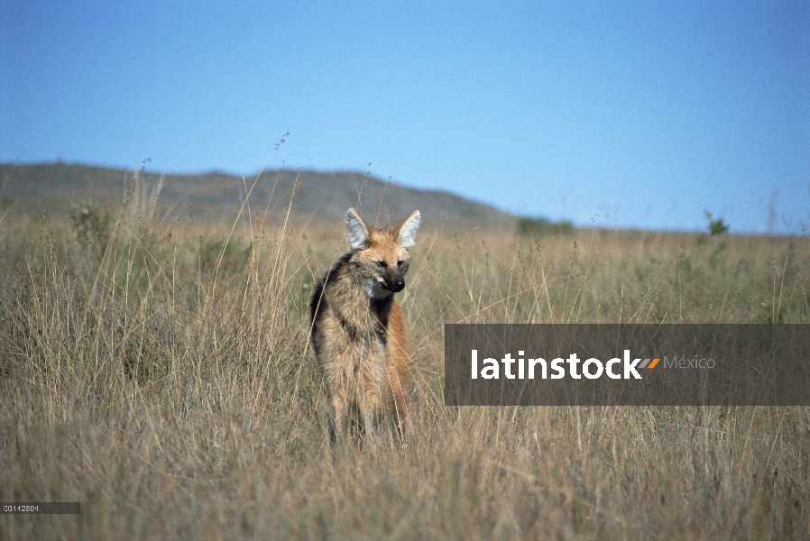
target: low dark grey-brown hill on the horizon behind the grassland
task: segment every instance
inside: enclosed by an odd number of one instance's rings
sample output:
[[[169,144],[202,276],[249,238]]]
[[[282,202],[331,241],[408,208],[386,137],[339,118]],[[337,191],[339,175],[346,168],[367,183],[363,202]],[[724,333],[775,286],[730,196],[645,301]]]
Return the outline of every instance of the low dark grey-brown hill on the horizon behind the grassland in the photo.
[[[60,162],[0,164],[0,199],[4,205],[14,202],[23,207],[42,207],[48,212],[68,212],[71,206],[88,200],[120,202],[136,176],[144,191],[151,193],[160,185],[161,213],[181,219],[191,214],[202,219],[235,215],[244,200],[244,183],[249,189],[256,178],[246,177],[243,182],[241,177],[221,172],[161,175]],[[399,220],[414,209],[429,216],[434,224],[473,220],[490,227],[511,227],[515,220],[513,215],[494,206],[446,191],[406,188],[356,172],[264,172],[253,189],[251,205],[265,204],[272,193],[271,205],[277,214],[276,211],[286,210],[290,204],[293,187],[296,194],[292,208],[296,215],[339,218],[349,206],[361,206],[363,214],[371,220],[380,210],[382,223]]]

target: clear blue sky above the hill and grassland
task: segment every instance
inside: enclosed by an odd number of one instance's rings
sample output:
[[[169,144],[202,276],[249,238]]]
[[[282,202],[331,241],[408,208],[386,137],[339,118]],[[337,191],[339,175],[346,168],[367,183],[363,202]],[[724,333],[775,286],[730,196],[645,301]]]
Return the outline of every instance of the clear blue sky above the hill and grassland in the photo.
[[[0,161],[57,159],[801,234],[810,3],[0,0]]]

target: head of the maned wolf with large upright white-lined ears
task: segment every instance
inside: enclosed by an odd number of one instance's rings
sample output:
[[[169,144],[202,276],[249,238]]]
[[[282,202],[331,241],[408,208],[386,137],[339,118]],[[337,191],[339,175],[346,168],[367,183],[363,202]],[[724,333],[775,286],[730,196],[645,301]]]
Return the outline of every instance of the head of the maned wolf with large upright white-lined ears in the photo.
[[[416,244],[420,220],[416,210],[391,229],[376,230],[366,225],[354,208],[346,211],[347,240],[352,247],[349,264],[366,295],[386,298],[405,289],[405,273],[410,264],[408,250]]]

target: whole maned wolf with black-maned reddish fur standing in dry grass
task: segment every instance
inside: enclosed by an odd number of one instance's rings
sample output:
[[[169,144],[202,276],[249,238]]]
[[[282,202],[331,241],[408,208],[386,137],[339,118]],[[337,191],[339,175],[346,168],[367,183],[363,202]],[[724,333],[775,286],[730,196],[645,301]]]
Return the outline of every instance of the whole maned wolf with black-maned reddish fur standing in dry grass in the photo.
[[[312,346],[334,409],[333,438],[373,433],[384,409],[400,437],[410,381],[405,320],[393,294],[405,288],[419,211],[388,230],[365,225],[354,208],[345,224],[352,251],[318,280],[309,309]]]

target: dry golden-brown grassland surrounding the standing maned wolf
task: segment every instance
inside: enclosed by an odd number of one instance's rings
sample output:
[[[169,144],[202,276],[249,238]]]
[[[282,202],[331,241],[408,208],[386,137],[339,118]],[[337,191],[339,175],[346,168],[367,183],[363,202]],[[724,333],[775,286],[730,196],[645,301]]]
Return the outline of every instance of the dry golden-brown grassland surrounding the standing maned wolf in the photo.
[[[446,408],[441,378],[445,323],[808,323],[806,238],[423,215],[407,445],[333,447],[306,304],[343,225],[161,221],[149,194],[3,209],[0,500],[82,512],[0,537],[810,538],[808,408]]]

